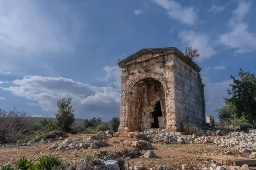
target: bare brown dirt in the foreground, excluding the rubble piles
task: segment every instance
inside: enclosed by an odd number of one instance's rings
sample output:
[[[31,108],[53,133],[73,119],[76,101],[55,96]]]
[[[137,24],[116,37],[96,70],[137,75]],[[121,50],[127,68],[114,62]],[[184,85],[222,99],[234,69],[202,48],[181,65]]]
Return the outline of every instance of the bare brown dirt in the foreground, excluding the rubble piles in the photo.
[[[89,137],[90,135],[69,135],[75,138]],[[131,147],[128,142],[133,142],[134,139],[128,137],[112,137],[106,139],[107,145],[98,149],[82,149],[55,151],[49,150],[48,144],[35,144],[33,146],[0,148],[0,164],[12,163],[17,161],[21,156],[26,156],[28,159],[38,160],[45,155],[60,157],[65,163],[70,165],[79,165],[85,159],[86,155],[99,153],[100,150],[121,150],[123,145]],[[125,141],[125,142],[123,142]],[[130,159],[129,167],[144,165],[144,167],[157,168],[159,166],[169,166],[175,169],[181,169],[182,164],[187,164],[191,167],[196,167],[203,164],[211,164],[211,160],[199,157],[198,155],[223,155],[227,151],[233,151],[233,156],[246,157],[245,155],[232,150],[231,148],[216,147],[215,144],[152,144],[155,146],[154,153],[160,158],[157,159]],[[145,153],[146,151],[143,151]],[[126,162],[127,164],[127,162]]]

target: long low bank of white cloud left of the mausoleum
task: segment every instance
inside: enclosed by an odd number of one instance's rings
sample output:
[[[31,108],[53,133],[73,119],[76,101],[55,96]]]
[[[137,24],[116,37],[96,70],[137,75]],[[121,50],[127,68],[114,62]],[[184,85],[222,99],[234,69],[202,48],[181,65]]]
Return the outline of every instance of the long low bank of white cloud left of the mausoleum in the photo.
[[[78,110],[80,116],[84,114],[91,116],[93,113],[119,115],[119,88],[96,87],[72,79],[41,76],[26,76],[12,83],[13,86],[0,88],[12,92],[13,95],[37,101],[43,111],[56,111],[58,99],[72,97],[74,108]]]

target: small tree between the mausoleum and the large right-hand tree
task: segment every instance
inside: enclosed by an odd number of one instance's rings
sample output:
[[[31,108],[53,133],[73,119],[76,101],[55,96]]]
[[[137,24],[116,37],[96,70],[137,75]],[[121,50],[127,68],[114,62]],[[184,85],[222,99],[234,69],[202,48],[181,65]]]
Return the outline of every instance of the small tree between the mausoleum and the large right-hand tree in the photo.
[[[220,119],[221,123],[227,124],[231,122],[233,119],[233,113],[228,106],[223,106],[222,108],[217,108],[215,112],[218,113],[218,119]]]

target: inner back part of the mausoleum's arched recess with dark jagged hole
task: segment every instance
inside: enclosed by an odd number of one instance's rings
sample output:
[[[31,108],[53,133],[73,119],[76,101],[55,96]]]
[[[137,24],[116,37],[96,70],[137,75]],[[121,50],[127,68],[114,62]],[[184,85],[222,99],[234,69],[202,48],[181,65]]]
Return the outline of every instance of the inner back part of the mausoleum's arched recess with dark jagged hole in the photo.
[[[138,85],[139,131],[166,128],[166,103],[163,85],[155,79],[145,78]]]

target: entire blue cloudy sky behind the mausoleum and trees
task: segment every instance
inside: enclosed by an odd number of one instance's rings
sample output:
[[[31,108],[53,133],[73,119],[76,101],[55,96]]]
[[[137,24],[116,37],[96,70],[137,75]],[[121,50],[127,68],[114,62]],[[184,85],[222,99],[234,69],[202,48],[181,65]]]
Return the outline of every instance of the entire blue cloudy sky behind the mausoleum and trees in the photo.
[[[224,105],[230,75],[256,73],[253,0],[0,0],[0,107],[54,117],[119,116],[121,70],[142,48],[192,46],[206,115]],[[218,119],[217,119],[218,121]]]

